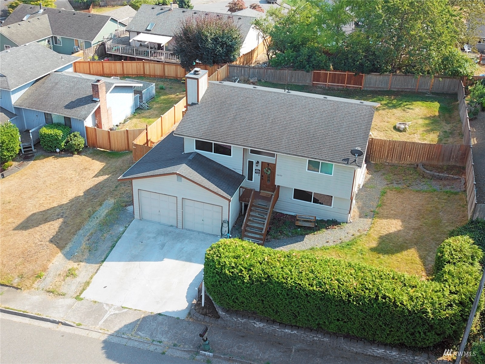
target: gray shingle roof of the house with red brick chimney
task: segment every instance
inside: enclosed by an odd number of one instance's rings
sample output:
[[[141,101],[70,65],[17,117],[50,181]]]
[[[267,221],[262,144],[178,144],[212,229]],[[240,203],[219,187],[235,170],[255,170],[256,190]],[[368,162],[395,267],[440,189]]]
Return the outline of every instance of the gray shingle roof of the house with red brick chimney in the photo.
[[[25,91],[14,106],[85,120],[99,105],[93,101],[91,83],[106,82],[106,93],[116,84],[135,86],[123,80],[73,72],[52,72]]]

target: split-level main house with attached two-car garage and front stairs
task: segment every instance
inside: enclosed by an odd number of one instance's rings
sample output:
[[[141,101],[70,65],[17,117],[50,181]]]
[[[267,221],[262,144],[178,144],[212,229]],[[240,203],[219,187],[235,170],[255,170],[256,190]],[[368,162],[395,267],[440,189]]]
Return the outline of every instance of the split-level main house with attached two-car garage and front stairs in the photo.
[[[135,218],[219,234],[247,204],[242,235],[258,243],[273,211],[350,221],[378,103],[208,82],[198,69],[186,85],[177,129],[119,178]]]

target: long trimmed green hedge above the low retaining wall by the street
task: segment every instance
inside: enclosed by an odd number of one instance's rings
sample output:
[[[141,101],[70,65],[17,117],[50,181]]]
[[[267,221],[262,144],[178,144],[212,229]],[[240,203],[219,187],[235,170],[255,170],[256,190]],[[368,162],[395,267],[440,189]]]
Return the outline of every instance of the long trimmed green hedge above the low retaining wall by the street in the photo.
[[[459,252],[462,243],[471,244],[459,241]],[[463,334],[481,277],[475,261],[482,253],[470,251],[471,265],[456,262],[447,250],[437,258],[443,268],[436,278],[424,281],[311,252],[222,239],[206,252],[204,281],[212,299],[226,309],[384,344],[428,347]]]

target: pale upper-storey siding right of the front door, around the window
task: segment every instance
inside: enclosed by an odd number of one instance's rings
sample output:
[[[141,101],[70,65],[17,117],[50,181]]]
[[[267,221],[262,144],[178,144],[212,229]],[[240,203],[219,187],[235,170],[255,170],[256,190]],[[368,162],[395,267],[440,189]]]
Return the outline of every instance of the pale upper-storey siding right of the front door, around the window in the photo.
[[[332,176],[309,172],[307,159],[278,154],[275,181],[280,186],[350,199],[354,171],[354,167],[335,164]]]

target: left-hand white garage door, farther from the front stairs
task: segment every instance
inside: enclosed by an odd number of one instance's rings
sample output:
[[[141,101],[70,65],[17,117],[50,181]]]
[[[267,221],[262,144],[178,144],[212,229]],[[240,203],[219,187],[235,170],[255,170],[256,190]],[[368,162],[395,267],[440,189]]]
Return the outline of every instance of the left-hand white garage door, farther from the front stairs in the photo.
[[[177,198],[138,190],[141,219],[177,226]]]

